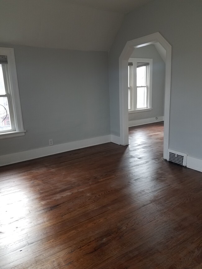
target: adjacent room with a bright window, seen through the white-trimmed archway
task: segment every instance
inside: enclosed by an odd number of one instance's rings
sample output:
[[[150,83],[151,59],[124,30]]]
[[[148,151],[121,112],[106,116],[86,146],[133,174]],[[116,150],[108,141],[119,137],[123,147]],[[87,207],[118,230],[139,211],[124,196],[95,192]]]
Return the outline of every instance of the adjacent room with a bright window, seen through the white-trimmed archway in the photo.
[[[166,50],[160,43],[141,46],[128,61],[129,145],[135,147],[137,158],[163,157]],[[155,137],[151,138],[153,128]]]

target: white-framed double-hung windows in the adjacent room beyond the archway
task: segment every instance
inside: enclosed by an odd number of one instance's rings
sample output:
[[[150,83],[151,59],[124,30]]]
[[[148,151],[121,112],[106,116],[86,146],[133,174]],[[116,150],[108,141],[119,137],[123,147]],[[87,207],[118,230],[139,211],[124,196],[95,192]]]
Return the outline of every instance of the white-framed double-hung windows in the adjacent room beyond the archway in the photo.
[[[130,58],[128,63],[128,111],[151,110],[152,59]]]

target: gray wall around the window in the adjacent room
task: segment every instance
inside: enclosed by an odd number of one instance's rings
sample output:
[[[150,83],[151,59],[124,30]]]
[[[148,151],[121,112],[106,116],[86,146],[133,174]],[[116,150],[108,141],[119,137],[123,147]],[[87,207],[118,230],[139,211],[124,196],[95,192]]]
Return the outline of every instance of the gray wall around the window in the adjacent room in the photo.
[[[129,121],[149,119],[164,115],[165,63],[154,45],[135,48],[132,58],[153,59],[152,65],[152,110],[128,114]]]

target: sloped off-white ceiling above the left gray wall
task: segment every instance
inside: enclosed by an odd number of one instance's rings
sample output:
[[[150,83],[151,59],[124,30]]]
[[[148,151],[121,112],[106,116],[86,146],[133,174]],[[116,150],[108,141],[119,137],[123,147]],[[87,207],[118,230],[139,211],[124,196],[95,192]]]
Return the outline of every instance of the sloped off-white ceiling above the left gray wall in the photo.
[[[0,0],[0,42],[109,51],[124,13],[151,0]]]

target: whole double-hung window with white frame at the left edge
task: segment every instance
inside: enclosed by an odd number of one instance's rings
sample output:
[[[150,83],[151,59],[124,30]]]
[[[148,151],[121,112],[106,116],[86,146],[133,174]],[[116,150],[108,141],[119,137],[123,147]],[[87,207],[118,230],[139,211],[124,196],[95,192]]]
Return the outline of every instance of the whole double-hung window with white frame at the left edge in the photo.
[[[0,48],[0,139],[25,134],[13,48]]]

